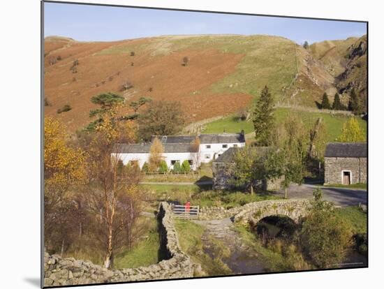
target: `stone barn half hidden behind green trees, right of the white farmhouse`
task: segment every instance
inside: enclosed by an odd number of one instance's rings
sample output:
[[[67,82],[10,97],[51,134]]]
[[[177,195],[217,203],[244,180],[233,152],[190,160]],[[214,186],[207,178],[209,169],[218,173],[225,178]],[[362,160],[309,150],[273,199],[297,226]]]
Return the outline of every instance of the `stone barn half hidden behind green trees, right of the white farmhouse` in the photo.
[[[230,170],[235,165],[234,156],[236,152],[242,148],[230,147],[227,151],[212,161],[212,172],[213,172],[213,188],[215,190],[223,190],[232,188],[230,179]],[[271,151],[271,147],[253,147],[256,149],[259,156],[267,156],[268,152]],[[281,179],[272,181],[267,179],[261,179],[256,186],[265,191],[279,190]]]

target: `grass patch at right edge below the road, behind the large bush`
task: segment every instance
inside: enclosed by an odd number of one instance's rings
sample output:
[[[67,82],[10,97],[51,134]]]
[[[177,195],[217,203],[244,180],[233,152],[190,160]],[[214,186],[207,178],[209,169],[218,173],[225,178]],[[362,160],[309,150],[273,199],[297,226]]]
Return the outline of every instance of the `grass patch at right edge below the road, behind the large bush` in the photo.
[[[350,224],[353,234],[367,232],[367,213],[363,212],[360,207],[343,207],[336,209],[336,212]]]

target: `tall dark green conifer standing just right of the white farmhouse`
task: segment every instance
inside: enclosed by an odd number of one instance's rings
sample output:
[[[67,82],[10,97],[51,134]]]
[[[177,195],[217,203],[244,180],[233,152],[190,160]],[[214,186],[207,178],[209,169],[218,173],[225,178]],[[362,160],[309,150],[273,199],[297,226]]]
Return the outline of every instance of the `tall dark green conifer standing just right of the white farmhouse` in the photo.
[[[274,133],[274,99],[265,86],[253,112],[253,127],[255,138],[259,145],[272,144]]]

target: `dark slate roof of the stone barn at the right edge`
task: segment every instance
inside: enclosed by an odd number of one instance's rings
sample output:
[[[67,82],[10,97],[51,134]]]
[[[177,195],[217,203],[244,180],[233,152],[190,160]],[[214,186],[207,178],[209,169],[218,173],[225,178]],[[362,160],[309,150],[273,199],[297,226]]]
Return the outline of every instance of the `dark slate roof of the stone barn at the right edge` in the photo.
[[[327,158],[367,158],[367,142],[330,142],[325,149]]]

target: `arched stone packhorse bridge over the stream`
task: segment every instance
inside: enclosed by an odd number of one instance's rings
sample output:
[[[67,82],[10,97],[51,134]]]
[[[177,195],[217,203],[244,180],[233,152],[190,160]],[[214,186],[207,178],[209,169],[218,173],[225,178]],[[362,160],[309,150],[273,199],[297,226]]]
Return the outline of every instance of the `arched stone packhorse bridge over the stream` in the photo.
[[[296,223],[307,216],[311,202],[305,199],[265,200],[250,202],[242,207],[224,209],[223,207],[202,207],[199,218],[213,220],[232,218],[235,222],[258,223],[267,216],[288,216]]]

